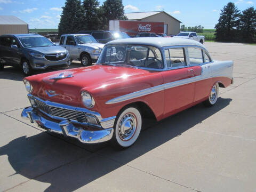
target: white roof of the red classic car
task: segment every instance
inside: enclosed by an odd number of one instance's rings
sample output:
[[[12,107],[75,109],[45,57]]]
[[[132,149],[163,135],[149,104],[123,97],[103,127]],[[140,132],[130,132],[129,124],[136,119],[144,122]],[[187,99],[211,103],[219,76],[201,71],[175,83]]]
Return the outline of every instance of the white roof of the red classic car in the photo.
[[[117,39],[108,42],[106,45],[110,44],[137,44],[137,45],[149,45],[155,47],[165,47],[165,46],[184,46],[192,45],[199,46],[206,50],[205,46],[195,40],[185,39],[185,38],[164,38],[164,37],[137,37],[137,38],[125,38]]]

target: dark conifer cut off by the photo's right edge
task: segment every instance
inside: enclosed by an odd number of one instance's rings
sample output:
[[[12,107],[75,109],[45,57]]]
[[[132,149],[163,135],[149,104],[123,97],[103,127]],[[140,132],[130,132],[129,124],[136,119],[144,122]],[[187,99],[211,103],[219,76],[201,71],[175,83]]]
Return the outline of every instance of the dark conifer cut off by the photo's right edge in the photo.
[[[253,42],[256,34],[256,10],[253,7],[249,7],[241,14],[240,29],[242,38],[246,42]]]

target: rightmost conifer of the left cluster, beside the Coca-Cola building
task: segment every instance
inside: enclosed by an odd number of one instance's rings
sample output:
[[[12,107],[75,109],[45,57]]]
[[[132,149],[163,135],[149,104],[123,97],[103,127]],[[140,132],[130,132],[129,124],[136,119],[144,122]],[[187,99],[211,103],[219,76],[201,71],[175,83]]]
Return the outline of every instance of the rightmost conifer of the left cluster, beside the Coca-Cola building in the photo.
[[[127,20],[124,15],[124,6],[122,0],[106,0],[100,7],[102,17],[102,29],[109,28],[109,20]]]

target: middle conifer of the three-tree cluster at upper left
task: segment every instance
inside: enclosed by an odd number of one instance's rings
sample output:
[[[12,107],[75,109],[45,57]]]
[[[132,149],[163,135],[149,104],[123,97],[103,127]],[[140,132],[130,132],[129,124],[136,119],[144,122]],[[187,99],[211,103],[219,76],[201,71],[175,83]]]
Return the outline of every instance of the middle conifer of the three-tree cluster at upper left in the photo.
[[[99,17],[99,5],[100,3],[98,0],[83,1],[83,23],[86,25],[86,29],[88,30],[98,30],[101,25],[102,18]]]

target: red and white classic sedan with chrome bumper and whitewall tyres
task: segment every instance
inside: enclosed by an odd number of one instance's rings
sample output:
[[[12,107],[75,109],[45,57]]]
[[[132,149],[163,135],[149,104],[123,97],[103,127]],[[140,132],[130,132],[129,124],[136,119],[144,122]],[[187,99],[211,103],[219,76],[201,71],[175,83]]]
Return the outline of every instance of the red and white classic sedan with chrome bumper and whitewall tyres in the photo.
[[[213,61],[189,39],[129,38],[105,45],[97,65],[23,79],[30,107],[22,117],[83,143],[129,147],[143,117],[157,121],[204,101],[233,83],[233,62]]]

